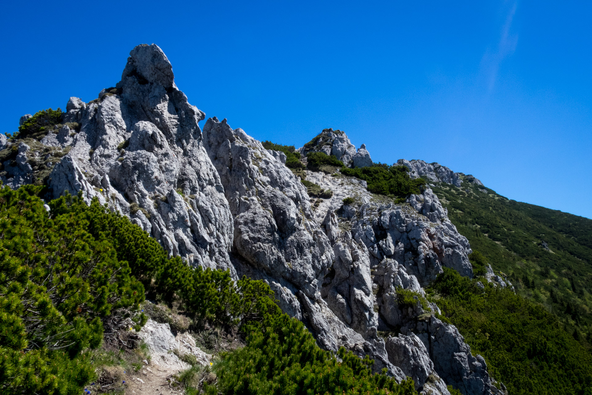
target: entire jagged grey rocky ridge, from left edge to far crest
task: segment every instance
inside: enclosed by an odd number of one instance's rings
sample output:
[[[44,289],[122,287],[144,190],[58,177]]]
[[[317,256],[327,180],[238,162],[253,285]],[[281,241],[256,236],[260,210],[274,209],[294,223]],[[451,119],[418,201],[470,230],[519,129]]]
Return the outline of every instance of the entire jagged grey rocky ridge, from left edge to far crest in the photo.
[[[285,153],[226,119],[208,118],[201,130],[205,117],[175,85],[163,51],[143,44],[115,86],[88,103],[70,98],[59,127],[18,145],[0,135],[2,152],[12,155],[2,181],[12,188],[42,182],[48,199],[98,198],[170,256],[264,280],[321,348],[369,355],[375,371],[410,376],[420,393],[449,394],[447,386],[504,393],[484,359],[425,301],[423,287],[444,267],[473,277],[471,246],[429,186],[397,201],[372,194],[362,179],[307,169],[305,181],[332,192],[311,199]],[[340,130],[323,130],[297,152],[372,165],[366,146],[356,150]],[[428,182],[482,185],[437,163],[397,163]],[[405,292],[414,303],[397,302]]]

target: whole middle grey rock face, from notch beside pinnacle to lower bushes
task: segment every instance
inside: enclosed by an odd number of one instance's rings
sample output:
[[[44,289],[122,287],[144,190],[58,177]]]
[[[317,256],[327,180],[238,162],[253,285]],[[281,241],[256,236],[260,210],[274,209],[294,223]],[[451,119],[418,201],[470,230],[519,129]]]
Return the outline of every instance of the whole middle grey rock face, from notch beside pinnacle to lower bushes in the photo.
[[[358,355],[370,354],[377,370],[387,367],[402,380],[376,336],[365,246],[348,239],[349,234],[332,246],[331,233],[327,236],[314,221],[300,179],[242,129],[210,118],[204,145],[234,217],[237,273],[268,282],[282,310],[303,319],[324,348],[346,346]],[[332,220],[329,215],[329,227]],[[339,277],[332,288],[321,288],[332,265],[339,267]]]

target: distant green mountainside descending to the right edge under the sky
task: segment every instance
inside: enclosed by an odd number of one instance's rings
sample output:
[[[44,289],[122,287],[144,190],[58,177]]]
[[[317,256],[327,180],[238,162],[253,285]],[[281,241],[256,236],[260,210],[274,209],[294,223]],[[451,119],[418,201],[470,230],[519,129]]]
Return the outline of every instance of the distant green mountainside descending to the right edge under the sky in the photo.
[[[438,184],[432,189],[472,249],[483,253],[494,271],[507,274],[517,293],[555,313],[589,348],[592,220],[508,200],[466,182],[462,188]]]

